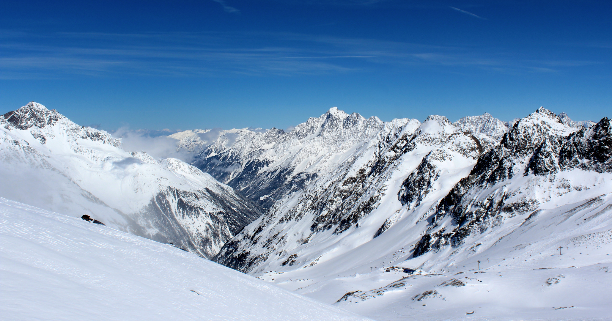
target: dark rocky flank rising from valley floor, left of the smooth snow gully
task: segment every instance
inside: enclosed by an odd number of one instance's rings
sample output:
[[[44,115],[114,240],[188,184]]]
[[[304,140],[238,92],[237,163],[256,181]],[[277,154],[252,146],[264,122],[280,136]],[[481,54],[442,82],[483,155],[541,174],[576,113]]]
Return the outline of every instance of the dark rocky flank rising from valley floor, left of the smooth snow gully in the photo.
[[[392,148],[403,149],[406,137],[416,125],[415,122],[402,127],[386,124],[374,139],[359,144],[361,148],[339,155],[348,161],[337,164],[337,169],[319,176],[303,190],[276,202],[266,215],[223,246],[215,260],[245,272],[258,268],[266,260],[280,267],[303,263],[302,257],[291,252],[310,242],[316,243],[316,237],[323,234],[342,234],[378,207],[384,192],[381,186],[384,175],[372,173],[383,172],[397,160],[386,155],[384,142],[399,140],[400,144]]]

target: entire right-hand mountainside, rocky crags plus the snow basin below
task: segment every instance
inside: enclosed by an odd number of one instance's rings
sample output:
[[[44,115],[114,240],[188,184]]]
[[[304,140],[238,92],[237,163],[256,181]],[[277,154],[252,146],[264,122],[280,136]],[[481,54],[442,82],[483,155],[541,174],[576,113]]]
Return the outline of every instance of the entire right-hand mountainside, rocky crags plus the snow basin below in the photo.
[[[540,108],[496,146],[481,136],[496,132],[499,122],[490,124],[430,116],[362,146],[276,202],[215,260],[379,320],[605,317],[610,120],[570,126]],[[569,252],[551,256],[559,246]],[[478,260],[487,273],[455,276]],[[403,282],[378,271],[396,264],[431,273]],[[477,308],[486,311],[465,314]]]

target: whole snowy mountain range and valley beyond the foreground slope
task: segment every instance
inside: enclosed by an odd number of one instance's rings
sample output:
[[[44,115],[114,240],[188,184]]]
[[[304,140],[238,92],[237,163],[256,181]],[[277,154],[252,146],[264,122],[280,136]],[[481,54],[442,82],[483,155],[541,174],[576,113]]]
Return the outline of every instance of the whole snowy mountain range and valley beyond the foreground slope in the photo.
[[[607,311],[580,281],[612,282],[607,117],[383,122],[330,108],[291,131],[154,139],[149,152],[34,102],[3,114],[2,206],[86,217],[378,320]]]

